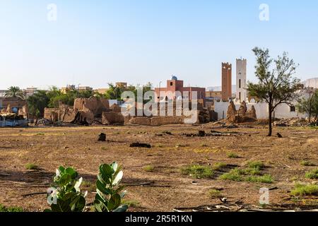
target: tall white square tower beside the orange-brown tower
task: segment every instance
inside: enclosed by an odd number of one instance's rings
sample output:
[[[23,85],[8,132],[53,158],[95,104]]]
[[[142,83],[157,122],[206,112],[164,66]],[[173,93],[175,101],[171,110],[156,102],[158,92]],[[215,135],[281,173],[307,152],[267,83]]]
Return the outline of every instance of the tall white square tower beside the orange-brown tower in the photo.
[[[247,81],[246,81],[246,59],[236,59],[236,100],[242,103],[247,102]]]

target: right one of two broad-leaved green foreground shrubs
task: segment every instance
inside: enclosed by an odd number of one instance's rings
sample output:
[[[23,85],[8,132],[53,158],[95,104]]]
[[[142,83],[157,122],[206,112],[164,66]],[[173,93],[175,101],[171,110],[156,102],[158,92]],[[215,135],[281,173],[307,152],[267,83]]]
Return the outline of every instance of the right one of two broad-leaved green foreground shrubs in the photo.
[[[122,192],[124,186],[119,186],[122,180],[122,167],[113,162],[111,165],[100,165],[94,208],[97,212],[125,212],[127,205],[122,205],[122,198],[126,191]]]

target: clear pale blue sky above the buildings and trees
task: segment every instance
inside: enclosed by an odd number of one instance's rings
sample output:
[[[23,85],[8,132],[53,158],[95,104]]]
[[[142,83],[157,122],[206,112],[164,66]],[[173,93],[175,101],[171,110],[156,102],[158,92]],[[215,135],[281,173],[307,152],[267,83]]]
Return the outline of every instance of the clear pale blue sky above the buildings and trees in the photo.
[[[57,21],[47,5],[57,5]],[[270,20],[259,20],[259,5]],[[0,89],[126,81],[220,85],[221,62],[255,46],[287,51],[302,80],[318,77],[318,1],[0,0]],[[233,83],[235,73],[233,73]]]

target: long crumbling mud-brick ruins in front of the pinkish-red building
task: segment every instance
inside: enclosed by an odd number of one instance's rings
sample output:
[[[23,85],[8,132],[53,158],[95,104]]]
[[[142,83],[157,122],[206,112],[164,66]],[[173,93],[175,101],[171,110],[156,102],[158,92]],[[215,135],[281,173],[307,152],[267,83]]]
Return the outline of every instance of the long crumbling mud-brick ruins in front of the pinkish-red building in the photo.
[[[158,104],[158,115],[160,115],[160,103]],[[191,103],[189,103],[191,106]],[[196,123],[207,123],[215,117],[214,112],[205,109],[201,103],[198,103],[198,112]],[[182,114],[177,114],[176,103],[173,103],[172,116],[124,116],[122,108],[118,105],[110,106],[108,100],[98,99],[95,97],[78,98],[74,101],[73,107],[60,104],[59,108],[45,108],[45,119],[48,119],[53,124],[61,121],[71,124],[139,124],[148,126],[160,126],[165,124],[184,124],[184,119],[187,117]],[[163,109],[161,109],[163,110]],[[183,112],[183,111],[182,111]],[[135,108],[135,115],[137,109]],[[165,106],[165,115],[167,114],[167,104]],[[179,115],[179,116],[177,116]]]

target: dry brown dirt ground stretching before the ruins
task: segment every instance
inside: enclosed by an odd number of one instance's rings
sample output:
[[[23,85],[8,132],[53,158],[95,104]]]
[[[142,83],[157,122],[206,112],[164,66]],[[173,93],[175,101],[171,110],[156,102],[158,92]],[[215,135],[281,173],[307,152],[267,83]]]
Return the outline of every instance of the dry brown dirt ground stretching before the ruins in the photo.
[[[199,130],[230,132],[230,136],[183,135]],[[129,211],[172,211],[176,207],[220,203],[218,198],[208,196],[213,188],[222,189],[228,201],[259,205],[259,189],[276,187],[270,191],[270,203],[288,203],[295,182],[314,183],[314,180],[305,179],[305,172],[318,165],[318,129],[275,127],[274,134],[279,132],[283,138],[267,137],[266,132],[263,126],[225,129],[212,124],[0,129],[0,203],[22,206],[27,211],[48,208],[45,195],[23,195],[45,192],[60,165],[76,168],[86,181],[82,190],[88,190],[88,202],[92,202],[98,166],[113,161],[124,167],[122,182],[127,185],[126,200],[134,203]],[[107,142],[98,141],[100,133],[107,134]],[[129,148],[130,143],[137,141],[150,143],[152,148]],[[230,152],[240,157],[229,158]],[[251,160],[264,162],[264,173],[271,174],[272,184],[218,178],[231,167],[243,167]],[[302,166],[302,160],[310,160],[316,167]],[[180,171],[191,164],[214,165],[217,162],[229,167],[211,179],[194,179]],[[37,165],[40,170],[26,169],[28,163]],[[153,166],[152,172],[144,169],[147,165]],[[148,182],[152,183],[139,186]]]

